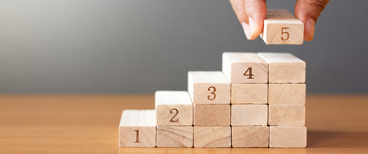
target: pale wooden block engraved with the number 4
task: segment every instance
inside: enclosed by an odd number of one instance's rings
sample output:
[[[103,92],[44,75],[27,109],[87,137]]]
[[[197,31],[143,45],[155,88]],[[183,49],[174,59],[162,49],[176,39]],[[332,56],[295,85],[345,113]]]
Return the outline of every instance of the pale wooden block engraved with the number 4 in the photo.
[[[222,72],[230,83],[268,82],[268,64],[255,53],[223,53]]]

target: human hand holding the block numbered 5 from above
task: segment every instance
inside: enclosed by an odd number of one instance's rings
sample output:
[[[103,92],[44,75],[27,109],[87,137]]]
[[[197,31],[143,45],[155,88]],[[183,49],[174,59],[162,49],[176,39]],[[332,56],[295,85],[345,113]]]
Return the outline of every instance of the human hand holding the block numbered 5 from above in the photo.
[[[314,36],[314,25],[329,0],[297,0],[294,8],[295,17],[304,23],[304,40]],[[230,0],[231,6],[243,25],[247,39],[254,40],[263,32],[266,18],[266,0]]]

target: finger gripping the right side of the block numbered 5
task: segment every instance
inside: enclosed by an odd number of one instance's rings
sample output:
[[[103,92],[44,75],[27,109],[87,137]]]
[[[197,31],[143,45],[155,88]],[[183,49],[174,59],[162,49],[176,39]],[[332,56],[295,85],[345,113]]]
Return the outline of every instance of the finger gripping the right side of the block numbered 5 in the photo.
[[[304,40],[310,41],[314,37],[314,25],[323,8],[329,0],[298,0],[294,14],[304,23]]]

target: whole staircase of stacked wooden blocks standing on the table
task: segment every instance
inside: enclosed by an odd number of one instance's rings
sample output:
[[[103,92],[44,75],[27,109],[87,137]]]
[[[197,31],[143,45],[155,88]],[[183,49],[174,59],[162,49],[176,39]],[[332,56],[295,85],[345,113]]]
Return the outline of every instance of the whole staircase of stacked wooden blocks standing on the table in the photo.
[[[188,72],[188,91],[157,91],[155,110],[124,110],[120,147],[307,145],[305,62],[290,53],[223,53],[222,71]]]

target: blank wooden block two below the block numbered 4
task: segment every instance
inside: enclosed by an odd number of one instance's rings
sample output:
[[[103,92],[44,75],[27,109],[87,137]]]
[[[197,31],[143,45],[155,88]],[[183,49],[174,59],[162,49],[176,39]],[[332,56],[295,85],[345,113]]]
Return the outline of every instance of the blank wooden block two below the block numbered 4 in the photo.
[[[231,105],[231,126],[267,126],[266,104]]]

